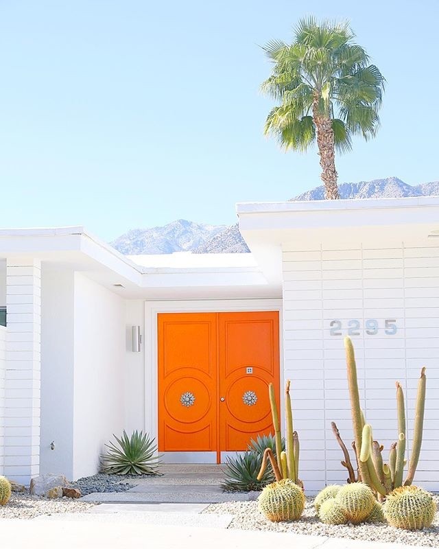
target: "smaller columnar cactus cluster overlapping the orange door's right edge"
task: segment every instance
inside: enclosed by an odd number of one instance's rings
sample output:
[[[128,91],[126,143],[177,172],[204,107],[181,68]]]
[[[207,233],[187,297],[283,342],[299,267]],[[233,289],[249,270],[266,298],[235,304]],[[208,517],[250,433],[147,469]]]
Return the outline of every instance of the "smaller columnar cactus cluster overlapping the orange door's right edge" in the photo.
[[[283,478],[289,478],[300,486],[302,483],[298,478],[299,467],[299,439],[296,431],[293,430],[293,412],[291,406],[291,397],[289,395],[290,382],[287,381],[285,386],[285,420],[287,423],[287,443],[285,452],[282,451],[282,437],[281,429],[279,427],[279,414],[276,405],[276,398],[274,395],[274,386],[272,383],[268,386],[268,395],[270,396],[270,406],[272,409],[273,428],[276,436],[276,459],[270,449],[265,449],[263,454],[263,460],[261,470],[259,471],[258,480],[261,480],[265,467],[267,467],[268,460],[272,465],[274,476],[276,480]]]

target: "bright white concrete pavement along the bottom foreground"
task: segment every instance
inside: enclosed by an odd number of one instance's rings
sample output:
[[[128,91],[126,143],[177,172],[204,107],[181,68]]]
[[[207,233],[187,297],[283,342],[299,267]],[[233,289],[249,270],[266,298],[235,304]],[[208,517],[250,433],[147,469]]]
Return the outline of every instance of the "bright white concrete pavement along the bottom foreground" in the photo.
[[[105,516],[102,513],[102,516]],[[83,518],[83,517],[82,517]],[[109,517],[110,518],[110,517]],[[115,522],[67,517],[51,520],[3,519],[1,547],[5,549],[252,549],[283,546],[295,549],[413,549],[403,544],[381,544],[353,539],[295,535],[291,533],[226,530],[187,526],[157,526],[142,522]]]

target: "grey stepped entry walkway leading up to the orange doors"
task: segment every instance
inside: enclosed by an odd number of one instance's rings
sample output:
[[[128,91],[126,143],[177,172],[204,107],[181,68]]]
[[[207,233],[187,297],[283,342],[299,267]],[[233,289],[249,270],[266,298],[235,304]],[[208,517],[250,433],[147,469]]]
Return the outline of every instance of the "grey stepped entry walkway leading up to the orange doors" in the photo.
[[[225,493],[221,465],[163,465],[162,476],[135,480],[136,486],[126,492],[91,493],[82,500],[106,503],[219,503],[250,501],[255,493]],[[132,479],[130,478],[130,482]]]

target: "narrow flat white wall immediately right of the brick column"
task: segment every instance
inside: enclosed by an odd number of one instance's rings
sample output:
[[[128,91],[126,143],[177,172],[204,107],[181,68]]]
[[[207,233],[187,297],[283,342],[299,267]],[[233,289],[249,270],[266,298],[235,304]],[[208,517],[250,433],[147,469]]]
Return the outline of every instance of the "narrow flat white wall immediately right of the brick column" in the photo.
[[[40,472],[73,478],[73,298],[71,270],[42,270]],[[54,449],[51,443],[54,442]]]

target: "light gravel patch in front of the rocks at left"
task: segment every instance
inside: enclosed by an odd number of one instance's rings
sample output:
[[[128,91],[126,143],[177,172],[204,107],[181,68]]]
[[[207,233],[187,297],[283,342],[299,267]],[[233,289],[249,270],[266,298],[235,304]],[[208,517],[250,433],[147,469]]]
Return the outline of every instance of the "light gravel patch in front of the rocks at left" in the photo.
[[[38,515],[55,513],[84,513],[94,506],[93,503],[71,498],[47,500],[28,493],[12,493],[8,504],[0,506],[0,519],[32,519]]]

